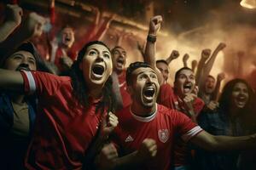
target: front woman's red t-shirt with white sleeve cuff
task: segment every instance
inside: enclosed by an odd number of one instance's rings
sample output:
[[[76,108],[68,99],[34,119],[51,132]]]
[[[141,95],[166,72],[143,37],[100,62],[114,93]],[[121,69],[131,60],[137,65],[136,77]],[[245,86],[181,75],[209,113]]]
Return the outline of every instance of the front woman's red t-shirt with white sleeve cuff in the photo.
[[[21,74],[26,94],[38,95],[38,115],[26,168],[81,169],[88,145],[103,118],[95,113],[99,100],[91,100],[89,108],[79,105],[73,96],[70,77],[39,71],[21,71]]]

